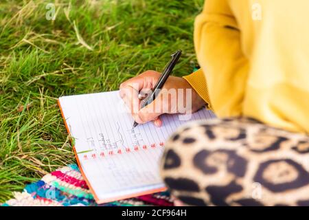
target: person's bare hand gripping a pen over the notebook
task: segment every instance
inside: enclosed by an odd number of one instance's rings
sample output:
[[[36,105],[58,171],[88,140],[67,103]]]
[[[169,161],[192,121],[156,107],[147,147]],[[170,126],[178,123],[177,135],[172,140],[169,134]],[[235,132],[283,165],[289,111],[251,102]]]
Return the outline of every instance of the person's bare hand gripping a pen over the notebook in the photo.
[[[120,96],[137,123],[154,121],[156,126],[161,126],[159,115],[163,113],[192,113],[205,105],[205,101],[184,78],[170,76],[156,99],[140,109],[139,94],[150,94],[160,76],[159,72],[148,70],[120,85]]]

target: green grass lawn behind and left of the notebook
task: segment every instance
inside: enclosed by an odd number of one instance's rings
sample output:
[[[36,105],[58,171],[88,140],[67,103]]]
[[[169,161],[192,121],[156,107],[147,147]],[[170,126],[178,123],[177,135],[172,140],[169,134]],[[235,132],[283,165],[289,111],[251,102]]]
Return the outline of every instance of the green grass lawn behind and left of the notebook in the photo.
[[[56,18],[47,20],[47,3]],[[118,89],[160,71],[192,72],[194,17],[203,0],[1,0],[0,202],[58,166],[75,162],[59,96]]]

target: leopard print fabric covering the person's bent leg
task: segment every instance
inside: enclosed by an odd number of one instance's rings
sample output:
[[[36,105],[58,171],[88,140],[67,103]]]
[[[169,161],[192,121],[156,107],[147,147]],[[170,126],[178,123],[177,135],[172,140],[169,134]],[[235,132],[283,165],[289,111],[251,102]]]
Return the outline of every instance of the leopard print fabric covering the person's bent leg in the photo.
[[[249,118],[193,122],[165,144],[161,176],[192,206],[309,206],[309,136]]]

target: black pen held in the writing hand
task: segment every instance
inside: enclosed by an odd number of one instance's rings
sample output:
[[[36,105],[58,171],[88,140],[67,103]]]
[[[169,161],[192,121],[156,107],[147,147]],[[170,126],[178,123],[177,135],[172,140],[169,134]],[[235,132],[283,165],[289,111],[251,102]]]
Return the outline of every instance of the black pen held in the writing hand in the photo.
[[[172,73],[172,70],[174,69],[177,61],[180,58],[180,56],[181,56],[181,50],[177,50],[176,52],[174,52],[174,54],[171,55],[172,58],[170,59],[170,62],[168,62],[168,64],[165,66],[165,69],[163,70],[163,72],[162,72],[158,82],[156,83],[155,87],[153,87],[152,94],[150,94],[150,96],[148,96],[147,98],[145,98],[142,101],[141,109],[146,107],[151,102],[153,102],[153,100],[155,100],[155,98],[157,97],[157,94],[159,94],[159,92],[163,88],[163,85],[165,84],[166,80],[168,80],[168,76],[170,76],[170,74]],[[134,122],[133,129],[137,125],[138,125],[138,123]]]

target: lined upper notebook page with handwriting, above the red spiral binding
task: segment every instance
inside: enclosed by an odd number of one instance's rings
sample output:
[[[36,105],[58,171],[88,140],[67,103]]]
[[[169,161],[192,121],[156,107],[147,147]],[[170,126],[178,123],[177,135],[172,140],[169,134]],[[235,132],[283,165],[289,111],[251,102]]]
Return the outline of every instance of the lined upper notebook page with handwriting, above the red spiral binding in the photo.
[[[82,148],[80,151],[109,151],[159,144],[164,142],[178,126],[185,123],[179,120],[177,115],[162,115],[161,128],[155,127],[150,122],[132,129],[133,118],[130,113],[124,113],[117,108],[117,102],[122,102],[117,92],[65,98],[72,103],[69,111],[75,111],[70,116],[70,122],[76,123],[75,127],[79,127],[76,139],[87,142],[87,149]],[[207,110],[192,115],[192,120],[203,118],[213,117]]]

